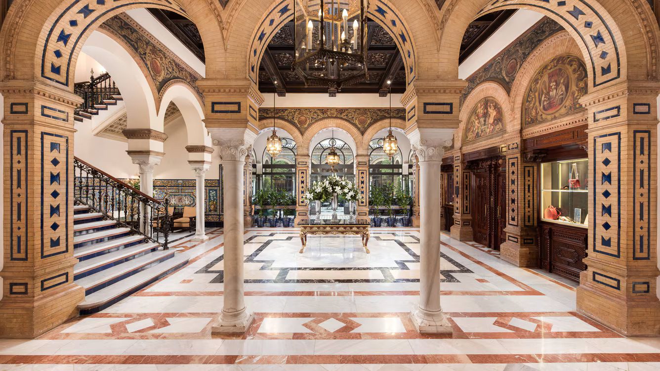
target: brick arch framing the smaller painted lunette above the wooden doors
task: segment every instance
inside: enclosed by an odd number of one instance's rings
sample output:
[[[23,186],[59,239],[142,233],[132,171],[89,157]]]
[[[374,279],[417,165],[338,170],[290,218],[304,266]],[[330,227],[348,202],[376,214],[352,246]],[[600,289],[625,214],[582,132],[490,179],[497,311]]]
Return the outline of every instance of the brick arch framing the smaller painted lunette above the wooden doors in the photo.
[[[465,126],[467,125],[467,119],[469,119],[477,103],[479,103],[484,98],[494,98],[500,107],[502,107],[502,113],[504,114],[504,125],[505,131],[496,137],[488,137],[484,139],[477,139],[476,141],[467,143],[463,146],[463,136],[465,135]],[[486,81],[477,85],[477,87],[472,90],[469,96],[465,99],[463,103],[463,108],[459,116],[461,123],[454,134],[454,147],[469,147],[469,148],[487,148],[496,145],[505,138],[510,137],[520,131],[520,122],[516,120],[515,114],[512,110],[511,100],[509,94],[507,94],[504,86],[494,82]]]

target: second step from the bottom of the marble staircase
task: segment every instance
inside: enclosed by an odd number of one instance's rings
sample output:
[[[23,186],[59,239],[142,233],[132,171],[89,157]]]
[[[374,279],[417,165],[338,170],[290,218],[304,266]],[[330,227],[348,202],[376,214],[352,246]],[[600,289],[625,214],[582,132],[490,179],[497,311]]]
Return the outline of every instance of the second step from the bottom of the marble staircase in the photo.
[[[153,263],[158,263],[160,259],[168,259],[174,256],[174,250],[160,250],[147,255],[138,257],[125,263],[117,264],[114,267],[104,269],[93,275],[88,275],[87,277],[75,280],[75,283],[79,286],[84,287],[86,294],[90,294],[92,288],[97,288],[100,290],[105,287],[110,287],[115,285],[118,281],[129,277],[131,273],[137,271],[140,268],[146,267]],[[137,272],[135,272],[137,273]],[[133,281],[132,279],[129,281]]]

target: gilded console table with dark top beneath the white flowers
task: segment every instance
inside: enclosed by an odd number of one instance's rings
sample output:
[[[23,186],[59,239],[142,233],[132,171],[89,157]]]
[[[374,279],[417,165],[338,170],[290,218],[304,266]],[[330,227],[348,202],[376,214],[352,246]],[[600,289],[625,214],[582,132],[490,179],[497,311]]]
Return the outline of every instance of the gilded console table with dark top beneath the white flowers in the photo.
[[[328,234],[354,234],[362,236],[362,246],[364,251],[370,253],[367,248],[369,242],[369,220],[368,219],[303,219],[300,220],[300,242],[302,248],[300,253],[304,252],[307,246],[308,234],[328,235]]]

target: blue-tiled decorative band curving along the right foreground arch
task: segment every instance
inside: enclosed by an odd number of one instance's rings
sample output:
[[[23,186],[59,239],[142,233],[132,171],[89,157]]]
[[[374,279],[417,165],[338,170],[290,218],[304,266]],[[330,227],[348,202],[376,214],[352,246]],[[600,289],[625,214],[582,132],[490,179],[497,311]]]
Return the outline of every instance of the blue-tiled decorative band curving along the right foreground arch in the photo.
[[[562,21],[578,34],[583,47],[589,53],[589,65],[593,75],[593,86],[601,86],[621,77],[621,56],[615,36],[616,24],[606,20],[611,18],[600,13],[585,0],[495,0],[486,5],[479,15],[498,11],[512,6],[543,10]],[[479,17],[478,15],[478,17]],[[620,34],[619,34],[620,35]]]

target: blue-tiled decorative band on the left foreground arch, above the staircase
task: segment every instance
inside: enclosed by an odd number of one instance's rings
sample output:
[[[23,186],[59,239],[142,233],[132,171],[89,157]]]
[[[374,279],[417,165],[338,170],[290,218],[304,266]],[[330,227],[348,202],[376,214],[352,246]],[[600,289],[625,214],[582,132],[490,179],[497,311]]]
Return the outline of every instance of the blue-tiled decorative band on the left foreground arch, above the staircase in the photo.
[[[74,0],[50,25],[43,46],[41,76],[55,83],[69,86],[73,54],[86,32],[113,11],[129,9],[133,5],[159,7],[185,14],[175,0]],[[47,25],[48,26],[48,25]]]

